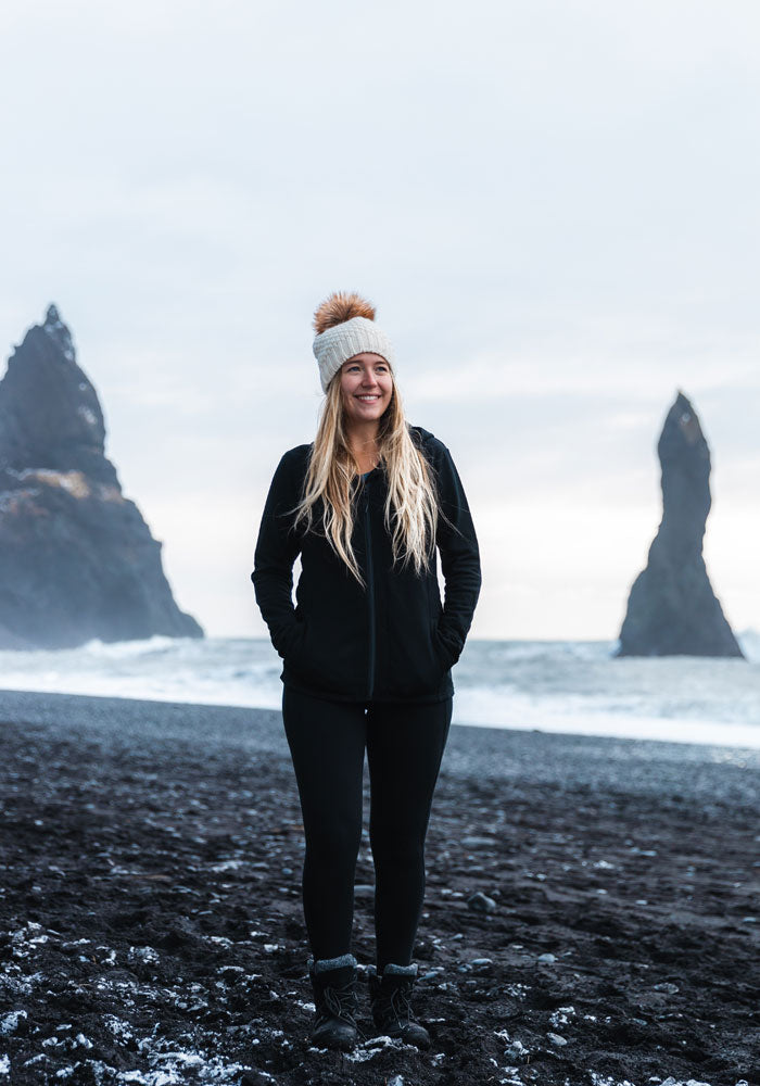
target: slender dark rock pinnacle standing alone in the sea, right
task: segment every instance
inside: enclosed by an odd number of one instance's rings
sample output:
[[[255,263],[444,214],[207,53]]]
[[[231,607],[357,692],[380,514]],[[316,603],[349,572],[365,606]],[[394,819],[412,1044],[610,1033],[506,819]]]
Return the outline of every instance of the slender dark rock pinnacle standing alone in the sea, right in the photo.
[[[742,656],[702,557],[710,450],[683,392],[668,413],[657,452],[662,521],[647,567],[633,582],[618,655]]]

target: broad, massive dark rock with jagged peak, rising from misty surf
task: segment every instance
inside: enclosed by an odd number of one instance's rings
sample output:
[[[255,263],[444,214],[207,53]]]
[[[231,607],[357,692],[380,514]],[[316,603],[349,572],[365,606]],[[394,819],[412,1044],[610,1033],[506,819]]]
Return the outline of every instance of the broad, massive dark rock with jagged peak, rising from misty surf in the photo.
[[[0,647],[203,636],[104,454],[98,395],[51,305],[0,381]]]

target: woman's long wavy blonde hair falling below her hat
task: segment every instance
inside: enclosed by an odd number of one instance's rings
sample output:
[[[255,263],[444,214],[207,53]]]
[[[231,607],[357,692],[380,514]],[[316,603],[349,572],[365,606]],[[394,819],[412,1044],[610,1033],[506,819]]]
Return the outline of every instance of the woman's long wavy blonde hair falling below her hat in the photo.
[[[390,369],[390,366],[389,366]],[[415,444],[404,416],[398,388],[393,378],[391,402],[378,427],[380,459],[378,467],[388,478],[384,505],[385,530],[391,535],[393,563],[411,563],[421,574],[430,568],[435,553],[435,526],[439,498],[434,472]],[[317,435],[309,455],[303,496],[295,506],[294,526],[315,527],[315,506],[321,500],[320,533],[343,559],[364,588],[351,536],[354,531],[356,495],[364,487],[359,466],[349,445],[345,409],[341,390],[341,370],[328,384],[321,405]]]

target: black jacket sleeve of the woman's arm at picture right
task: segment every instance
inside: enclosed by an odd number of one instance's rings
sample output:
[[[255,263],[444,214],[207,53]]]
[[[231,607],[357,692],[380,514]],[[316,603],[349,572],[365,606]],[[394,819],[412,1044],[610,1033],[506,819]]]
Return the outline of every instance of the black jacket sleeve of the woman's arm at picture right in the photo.
[[[459,659],[480,595],[480,551],[465,489],[448,449],[438,442],[436,471],[441,513],[436,541],[445,581],[438,632],[452,662]]]

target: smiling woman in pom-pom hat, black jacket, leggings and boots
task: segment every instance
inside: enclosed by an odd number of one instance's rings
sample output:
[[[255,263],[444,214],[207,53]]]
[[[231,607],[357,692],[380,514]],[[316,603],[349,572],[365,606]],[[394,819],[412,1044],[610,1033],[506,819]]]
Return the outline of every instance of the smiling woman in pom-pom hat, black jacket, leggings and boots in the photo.
[[[448,450],[404,418],[393,350],[372,306],[356,294],[331,294],[315,330],[326,394],[316,439],[280,459],[251,574],[283,659],[282,719],[303,811],[311,1040],[351,1048],[357,1038],[350,944],[366,749],[372,1018],[383,1034],[428,1047],[410,1006],[411,956],[452,718],[451,668],[480,592],[478,541]]]

